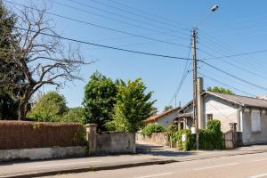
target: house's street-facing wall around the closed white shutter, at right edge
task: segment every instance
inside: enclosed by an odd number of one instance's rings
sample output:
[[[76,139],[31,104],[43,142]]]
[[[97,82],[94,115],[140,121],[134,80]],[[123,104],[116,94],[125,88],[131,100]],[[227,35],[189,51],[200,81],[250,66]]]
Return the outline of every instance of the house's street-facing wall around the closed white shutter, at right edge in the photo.
[[[251,111],[246,109],[242,119],[243,144],[267,143],[267,114],[261,111],[261,132],[251,132]]]

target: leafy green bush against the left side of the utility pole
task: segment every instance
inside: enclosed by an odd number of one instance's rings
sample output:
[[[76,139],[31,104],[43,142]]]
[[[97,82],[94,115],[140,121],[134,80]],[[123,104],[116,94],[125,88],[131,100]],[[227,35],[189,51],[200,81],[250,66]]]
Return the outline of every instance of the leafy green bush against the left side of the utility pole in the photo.
[[[185,135],[185,142],[182,142],[182,134]],[[172,132],[170,134],[170,140],[175,144],[175,146],[180,150],[193,150],[194,141],[193,135],[189,129],[183,129],[180,131]]]

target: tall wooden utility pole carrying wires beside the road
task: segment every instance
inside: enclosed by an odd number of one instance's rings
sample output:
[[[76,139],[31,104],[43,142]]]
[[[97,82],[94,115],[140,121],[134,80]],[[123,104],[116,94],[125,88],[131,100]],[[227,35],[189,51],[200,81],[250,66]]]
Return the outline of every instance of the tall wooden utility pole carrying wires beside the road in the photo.
[[[197,79],[198,79],[198,61],[197,61],[197,28],[193,28],[192,31],[192,59],[193,59],[193,121],[196,127],[196,142],[197,150],[199,149],[198,142],[198,91],[197,91]]]

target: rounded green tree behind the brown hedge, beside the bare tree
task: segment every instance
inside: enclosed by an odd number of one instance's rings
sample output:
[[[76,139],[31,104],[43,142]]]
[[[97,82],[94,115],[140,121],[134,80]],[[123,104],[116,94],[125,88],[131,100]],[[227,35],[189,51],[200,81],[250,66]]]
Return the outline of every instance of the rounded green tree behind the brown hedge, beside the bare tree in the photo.
[[[49,92],[37,99],[28,117],[40,122],[60,122],[67,111],[65,97],[57,92]]]

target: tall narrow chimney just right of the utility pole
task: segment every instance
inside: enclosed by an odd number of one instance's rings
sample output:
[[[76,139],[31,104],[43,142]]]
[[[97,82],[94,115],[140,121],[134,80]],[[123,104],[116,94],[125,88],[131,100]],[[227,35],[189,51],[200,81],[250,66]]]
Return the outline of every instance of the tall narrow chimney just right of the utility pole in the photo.
[[[205,128],[204,112],[203,112],[203,98],[201,93],[203,93],[203,77],[198,77],[197,80],[197,94],[198,94],[198,128]]]

